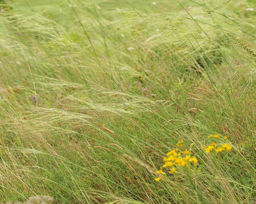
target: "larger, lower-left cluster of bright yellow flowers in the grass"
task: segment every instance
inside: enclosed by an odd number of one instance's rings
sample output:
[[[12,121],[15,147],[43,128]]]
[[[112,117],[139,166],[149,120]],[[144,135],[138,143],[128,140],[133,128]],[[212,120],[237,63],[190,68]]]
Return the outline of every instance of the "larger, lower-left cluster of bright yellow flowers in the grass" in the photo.
[[[176,146],[184,147],[184,141],[177,142]],[[180,150],[179,148],[175,148],[167,152],[167,156],[164,156],[163,161],[164,164],[160,168],[159,171],[156,173],[160,173],[165,175],[166,173],[163,171],[167,169],[168,173],[174,174],[177,171],[177,168],[180,167],[188,167],[190,164],[196,165],[197,159],[195,156],[191,156],[192,152],[185,149],[184,151]],[[155,181],[160,181],[162,176],[155,178]]]

